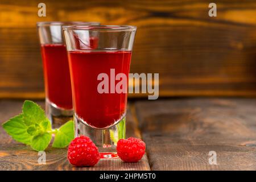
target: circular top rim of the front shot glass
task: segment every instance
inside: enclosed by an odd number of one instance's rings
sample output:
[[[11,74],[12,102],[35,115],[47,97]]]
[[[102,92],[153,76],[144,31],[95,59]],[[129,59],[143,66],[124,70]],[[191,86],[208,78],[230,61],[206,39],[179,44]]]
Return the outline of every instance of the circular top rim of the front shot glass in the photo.
[[[136,26],[130,25],[69,25],[63,26],[63,30],[93,30],[93,31],[136,31]]]

